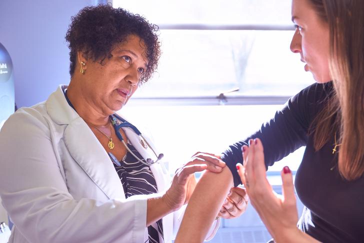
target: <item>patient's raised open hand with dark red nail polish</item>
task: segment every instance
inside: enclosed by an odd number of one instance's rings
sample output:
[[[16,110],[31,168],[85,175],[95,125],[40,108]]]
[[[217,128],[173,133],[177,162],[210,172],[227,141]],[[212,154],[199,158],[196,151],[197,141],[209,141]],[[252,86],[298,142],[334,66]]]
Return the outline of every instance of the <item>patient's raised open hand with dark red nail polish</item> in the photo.
[[[251,204],[269,233],[276,242],[296,240],[294,237],[301,238],[301,231],[296,227],[298,213],[292,173],[288,166],[281,171],[283,195],[280,196],[272,190],[266,178],[263,145],[260,139],[250,139],[249,147],[244,145],[242,150],[243,165],[236,164],[237,172],[245,185]]]

